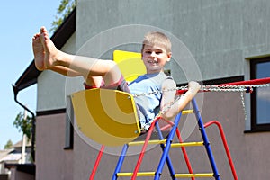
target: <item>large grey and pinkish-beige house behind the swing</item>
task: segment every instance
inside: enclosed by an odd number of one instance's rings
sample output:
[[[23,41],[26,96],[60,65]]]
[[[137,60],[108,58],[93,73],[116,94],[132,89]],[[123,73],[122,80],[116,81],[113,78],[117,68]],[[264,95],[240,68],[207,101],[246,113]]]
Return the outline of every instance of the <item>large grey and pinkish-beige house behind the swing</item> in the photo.
[[[269,9],[266,0],[227,1],[82,1],[51,39],[68,53],[112,59],[114,49],[139,52],[142,34],[164,31],[172,39],[173,60],[166,67],[177,85],[189,80],[204,85],[259,79],[269,76]],[[32,62],[14,85],[18,93],[38,84],[35,130],[36,179],[88,179],[100,146],[74,130],[68,95],[82,87],[51,71],[39,72]],[[204,122],[218,120],[225,131],[238,179],[268,179],[270,143],[269,87],[252,94],[211,92],[198,94]],[[191,117],[181,120],[186,141],[197,139]],[[219,131],[207,129],[221,179],[232,179]],[[110,179],[119,149],[106,148],[96,179]],[[188,148],[194,172],[210,168],[205,154]],[[136,153],[123,171],[134,168]],[[159,147],[151,148],[142,169],[157,167]],[[175,166],[186,170],[183,157],[173,150]],[[169,179],[166,167],[162,179]]]

